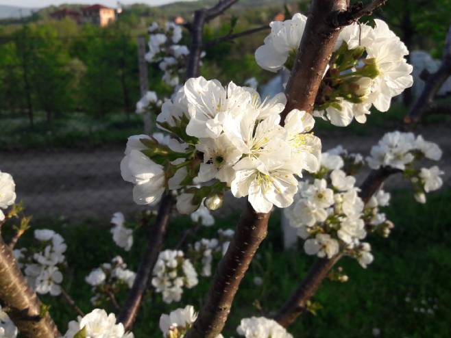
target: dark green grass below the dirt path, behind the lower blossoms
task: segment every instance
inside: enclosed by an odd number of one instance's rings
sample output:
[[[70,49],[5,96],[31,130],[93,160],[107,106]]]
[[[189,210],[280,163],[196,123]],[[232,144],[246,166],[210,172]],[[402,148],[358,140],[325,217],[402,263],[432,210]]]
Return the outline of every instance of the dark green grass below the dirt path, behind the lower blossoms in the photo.
[[[350,276],[348,283],[325,281],[314,300],[323,309],[316,316],[306,314],[290,328],[294,337],[371,337],[379,328],[381,337],[449,337],[451,319],[451,190],[429,196],[426,205],[415,203],[411,192],[393,193],[387,209],[395,223],[389,239],[371,238],[375,261],[367,270],[352,259],[339,265]],[[402,212],[401,212],[402,211]],[[199,237],[211,237],[218,227],[233,227],[237,215],[217,220],[214,228],[204,228]],[[69,226],[60,220],[40,221],[36,227],[60,232],[69,244],[66,252],[69,268],[64,274],[64,287],[84,311],[90,311],[90,287],[84,276],[92,268],[121,255],[136,270],[141,249],[145,245],[143,231],[138,231],[130,252],[114,246],[108,224],[87,221]],[[165,246],[171,248],[191,222],[188,218],[171,221]],[[7,230],[7,229],[5,229]],[[27,246],[29,231],[19,246]],[[191,238],[193,239],[193,238]],[[271,218],[269,236],[258,250],[249,272],[235,299],[225,337],[234,335],[242,317],[271,314],[280,307],[304,276],[313,261],[301,250],[283,250],[279,215]],[[256,287],[253,278],[264,283]],[[134,329],[135,337],[161,337],[158,318],[161,313],[193,304],[199,309],[209,286],[209,278],[200,278],[197,287],[184,291],[182,302],[164,304],[159,295],[147,298]],[[57,298],[42,296],[51,305],[51,313],[62,331],[76,314]],[[118,295],[123,301],[125,294]],[[408,301],[406,301],[408,300]],[[415,311],[417,308],[417,311]],[[422,313],[433,309],[433,314]],[[108,309],[112,311],[112,309]]]

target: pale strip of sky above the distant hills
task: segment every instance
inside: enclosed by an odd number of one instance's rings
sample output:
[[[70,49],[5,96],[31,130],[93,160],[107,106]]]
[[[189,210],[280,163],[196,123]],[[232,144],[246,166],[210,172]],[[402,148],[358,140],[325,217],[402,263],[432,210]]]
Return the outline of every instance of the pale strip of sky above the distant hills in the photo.
[[[130,3],[147,3],[147,5],[162,5],[174,1],[189,1],[189,0],[122,0],[124,5]],[[19,7],[39,8],[48,5],[60,5],[61,3],[87,3],[88,5],[94,3],[101,3],[111,7],[116,7],[117,0],[0,0],[0,5],[12,5]]]

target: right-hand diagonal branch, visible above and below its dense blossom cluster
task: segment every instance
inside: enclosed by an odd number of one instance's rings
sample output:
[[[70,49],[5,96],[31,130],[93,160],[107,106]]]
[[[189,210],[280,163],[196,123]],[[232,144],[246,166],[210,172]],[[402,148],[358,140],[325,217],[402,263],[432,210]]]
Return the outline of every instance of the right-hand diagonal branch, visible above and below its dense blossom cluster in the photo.
[[[367,178],[361,184],[360,197],[363,203],[368,203],[369,198],[373,196],[380,188],[382,183],[388,179],[391,174],[401,172],[393,168],[380,168],[371,170]],[[341,259],[342,255],[332,257],[332,259],[318,258],[313,263],[310,270],[300,283],[299,287],[293,292],[290,298],[285,302],[282,309],[278,311],[275,319],[282,326],[289,326],[295,319],[306,310],[306,302],[312,298],[321,282],[324,281],[334,267]]]

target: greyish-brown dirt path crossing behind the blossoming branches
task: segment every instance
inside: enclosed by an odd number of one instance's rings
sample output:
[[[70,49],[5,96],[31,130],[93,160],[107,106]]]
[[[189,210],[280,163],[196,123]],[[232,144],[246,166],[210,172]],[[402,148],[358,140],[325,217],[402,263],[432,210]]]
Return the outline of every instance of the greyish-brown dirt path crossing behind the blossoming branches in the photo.
[[[422,127],[416,133],[437,142],[443,149],[441,168],[446,185],[451,177],[451,127]],[[348,151],[363,155],[375,144],[382,131],[371,135],[349,132],[319,133],[324,150],[342,144]],[[119,163],[123,147],[98,148],[95,151],[57,150],[0,153],[0,170],[10,172],[16,192],[27,211],[35,216],[65,216],[108,219],[115,211],[131,213],[140,209],[132,201],[132,186],[121,179]],[[391,179],[390,185],[402,184]]]

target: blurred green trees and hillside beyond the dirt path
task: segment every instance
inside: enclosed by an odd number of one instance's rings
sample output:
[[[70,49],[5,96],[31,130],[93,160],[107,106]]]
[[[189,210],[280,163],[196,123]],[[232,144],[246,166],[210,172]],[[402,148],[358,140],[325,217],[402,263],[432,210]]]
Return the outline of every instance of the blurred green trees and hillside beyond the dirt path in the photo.
[[[26,18],[1,20],[0,119],[10,123],[0,138],[0,147],[21,146],[16,142],[24,128],[27,131],[24,142],[30,146],[33,142],[26,140],[30,133],[53,135],[60,131],[61,124],[88,121],[91,126],[88,131],[95,129],[96,121],[121,121],[125,129],[136,125],[132,117],[140,96],[136,38],[147,34],[152,21],[164,23],[175,16],[188,21],[193,10],[212,3],[215,0],[160,7],[130,5],[123,8],[117,21],[105,28],[77,25],[69,18],[54,21],[49,16],[59,8],[80,8],[77,5],[50,6]],[[239,32],[267,25],[277,14],[308,12],[308,3],[239,1],[208,24],[205,41],[224,36],[232,29]],[[387,21],[410,50],[425,49],[440,57],[450,12],[449,0],[392,0],[376,16]],[[262,70],[254,60],[254,51],[266,35],[267,31],[260,31],[208,47],[202,75],[223,83],[233,80],[242,84],[249,77],[256,77],[259,83],[267,82],[273,74]],[[187,34],[182,43],[189,43]],[[168,94],[161,76],[158,68],[149,66],[151,90]],[[404,97],[407,105],[411,103],[408,96]],[[75,123],[73,116],[77,116]],[[14,129],[14,125],[19,129]]]

